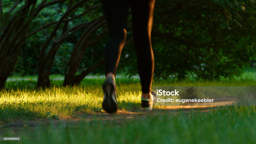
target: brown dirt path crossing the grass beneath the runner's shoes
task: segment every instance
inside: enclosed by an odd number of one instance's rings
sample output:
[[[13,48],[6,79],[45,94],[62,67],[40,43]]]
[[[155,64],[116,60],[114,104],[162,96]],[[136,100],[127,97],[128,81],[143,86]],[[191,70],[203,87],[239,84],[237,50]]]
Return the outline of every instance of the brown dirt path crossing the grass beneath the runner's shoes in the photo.
[[[118,110],[115,114],[108,114],[103,110],[94,113],[77,113],[76,117],[60,117],[60,120],[36,119],[31,121],[13,121],[10,123],[0,123],[0,134],[5,130],[23,131],[25,129],[34,129],[37,126],[48,127],[51,123],[58,124],[78,124],[81,121],[114,121],[117,125],[123,125],[124,120],[136,122],[137,120],[146,119],[148,116],[164,115],[164,114],[187,114],[192,109],[194,111],[208,112],[209,109],[214,110],[215,106],[155,106],[151,111],[143,112],[136,110],[134,112],[126,110]]]

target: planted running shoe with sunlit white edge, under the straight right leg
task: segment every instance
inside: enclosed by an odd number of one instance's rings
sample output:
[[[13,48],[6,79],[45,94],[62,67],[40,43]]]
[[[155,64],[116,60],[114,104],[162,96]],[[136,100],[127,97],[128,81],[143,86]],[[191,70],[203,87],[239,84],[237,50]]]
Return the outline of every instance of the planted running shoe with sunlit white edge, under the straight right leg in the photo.
[[[156,93],[151,91],[151,98],[144,99],[141,95],[141,110],[142,111],[150,111],[153,108],[153,104],[156,103]]]

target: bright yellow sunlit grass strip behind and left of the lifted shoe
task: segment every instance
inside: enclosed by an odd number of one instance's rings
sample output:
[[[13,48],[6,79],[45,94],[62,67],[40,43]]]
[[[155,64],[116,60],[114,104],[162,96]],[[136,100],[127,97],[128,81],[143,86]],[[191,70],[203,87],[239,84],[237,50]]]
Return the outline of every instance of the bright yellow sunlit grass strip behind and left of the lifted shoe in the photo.
[[[119,90],[119,108],[138,107],[139,93],[139,90]],[[52,87],[37,91],[1,91],[0,94],[0,120],[42,118],[46,112],[62,117],[81,111],[95,112],[101,110],[103,100],[99,87]]]

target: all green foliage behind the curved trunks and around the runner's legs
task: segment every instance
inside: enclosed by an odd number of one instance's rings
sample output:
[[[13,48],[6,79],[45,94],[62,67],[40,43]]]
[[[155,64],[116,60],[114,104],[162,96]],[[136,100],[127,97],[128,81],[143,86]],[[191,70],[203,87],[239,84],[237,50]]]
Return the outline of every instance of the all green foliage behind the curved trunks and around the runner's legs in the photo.
[[[42,1],[37,1],[38,5]],[[58,21],[68,7],[78,1],[65,1],[42,9],[29,25],[28,34],[45,24]],[[25,1],[20,2],[15,13]],[[90,0],[78,6],[68,18],[83,13],[99,0]],[[4,24],[8,10],[15,1],[3,1],[0,28]],[[103,15],[102,7],[68,22],[68,29]],[[255,54],[255,1],[156,1],[152,30],[152,45],[155,56],[156,79],[219,79],[239,76],[244,68],[249,68],[256,60]],[[47,46],[46,53],[62,34],[65,23],[57,30],[56,36]],[[55,25],[40,30],[25,39],[13,75],[36,75],[40,49],[51,34]],[[99,28],[91,37],[97,36],[106,26]],[[128,18],[127,40],[131,38],[131,16]],[[82,33],[80,29],[61,44],[54,57],[51,74],[64,74],[65,68]],[[104,57],[105,34],[94,45],[87,48],[77,75],[92,67]],[[137,61],[134,46],[126,45],[122,51],[118,72],[137,74]],[[104,74],[104,65],[93,72]]]

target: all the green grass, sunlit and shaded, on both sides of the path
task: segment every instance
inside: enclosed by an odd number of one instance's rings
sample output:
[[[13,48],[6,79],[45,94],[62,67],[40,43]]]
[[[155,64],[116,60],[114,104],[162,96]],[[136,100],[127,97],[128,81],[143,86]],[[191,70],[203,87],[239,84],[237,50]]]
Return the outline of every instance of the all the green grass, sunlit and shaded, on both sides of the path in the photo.
[[[255,106],[154,108],[144,113],[138,110],[140,81],[116,79],[119,109],[129,114],[105,114],[101,108],[103,81],[84,79],[74,87],[61,87],[61,81],[54,81],[46,89],[37,89],[35,81],[7,82],[8,90],[0,91],[0,137],[21,136],[22,141],[15,143],[254,142]],[[255,80],[158,80],[153,86],[255,86]],[[60,120],[47,120],[47,112]]]

